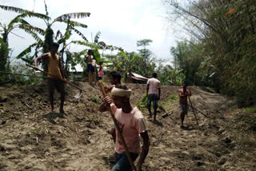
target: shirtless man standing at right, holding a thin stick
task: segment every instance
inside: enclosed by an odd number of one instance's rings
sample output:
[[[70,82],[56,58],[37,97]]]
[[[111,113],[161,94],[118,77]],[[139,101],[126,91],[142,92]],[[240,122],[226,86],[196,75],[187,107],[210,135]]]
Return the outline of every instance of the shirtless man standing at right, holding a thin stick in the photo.
[[[185,82],[182,83],[182,89],[178,89],[178,96],[179,96],[179,110],[181,113],[181,128],[184,128],[183,121],[185,119],[185,115],[187,114],[187,97],[191,96],[190,88],[187,88],[187,84]]]

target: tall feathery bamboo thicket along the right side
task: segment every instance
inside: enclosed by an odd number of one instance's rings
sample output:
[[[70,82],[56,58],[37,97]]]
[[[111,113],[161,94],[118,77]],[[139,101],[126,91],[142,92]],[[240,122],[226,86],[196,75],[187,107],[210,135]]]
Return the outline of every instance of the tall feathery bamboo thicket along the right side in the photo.
[[[172,14],[170,20],[193,40],[172,50],[186,81],[234,95],[239,106],[256,103],[255,2],[166,0],[164,4]]]

